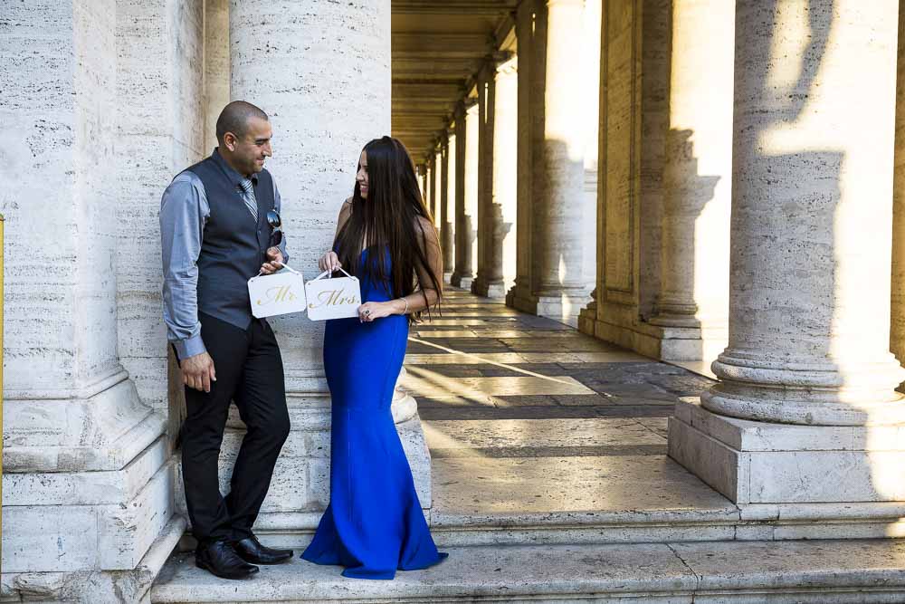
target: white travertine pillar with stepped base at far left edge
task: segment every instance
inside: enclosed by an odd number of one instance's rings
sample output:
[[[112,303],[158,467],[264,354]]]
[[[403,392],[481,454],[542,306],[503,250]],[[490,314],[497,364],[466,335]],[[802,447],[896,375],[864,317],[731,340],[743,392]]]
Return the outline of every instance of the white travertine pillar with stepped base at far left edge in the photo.
[[[166,392],[166,353],[154,347],[163,346],[160,307],[157,293],[148,293],[149,283],[159,284],[159,251],[156,275],[146,272],[154,256],[145,260],[154,250],[146,219],[153,214],[156,222],[156,206],[146,214],[138,199],[158,203],[162,189],[157,198],[122,195],[172,176],[167,101],[175,88],[160,76],[173,62],[185,64],[155,37],[168,23],[163,3],[118,4],[13,3],[0,23],[0,56],[14,57],[0,62],[0,77],[16,82],[0,104],[0,141],[18,149],[0,166],[5,182],[15,183],[0,194],[5,601],[142,600],[149,586],[139,579],[159,569],[138,570],[148,551],[157,540],[166,557],[185,526],[173,517],[166,419],[151,406],[158,384]],[[195,32],[192,21],[186,31]],[[182,33],[172,35],[186,42]],[[130,67],[141,68],[140,78],[119,72]],[[139,79],[159,104],[129,105],[141,101],[137,91],[119,98],[118,81]],[[138,125],[144,154],[124,161],[119,153],[138,149],[130,136]],[[133,229],[128,247],[119,239],[124,224]],[[129,284],[140,294],[120,283],[119,259],[129,255]],[[128,342],[120,340],[120,294],[147,301],[129,310]],[[143,342],[153,357],[144,366],[146,383],[154,382],[146,400],[119,356],[139,326],[153,336]],[[141,367],[133,350],[124,349]]]

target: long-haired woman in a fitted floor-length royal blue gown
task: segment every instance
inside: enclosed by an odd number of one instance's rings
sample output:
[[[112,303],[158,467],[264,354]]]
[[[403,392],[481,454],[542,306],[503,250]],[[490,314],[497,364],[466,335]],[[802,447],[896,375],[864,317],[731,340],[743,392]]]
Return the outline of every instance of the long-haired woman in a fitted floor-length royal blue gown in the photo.
[[[414,491],[390,403],[405,358],[408,322],[440,302],[436,230],[396,139],[367,143],[354,195],[339,210],[321,270],[357,276],[358,317],[327,322],[324,368],[332,397],[330,504],[302,558],[341,564],[343,576],[393,579],[446,557],[437,551]]]

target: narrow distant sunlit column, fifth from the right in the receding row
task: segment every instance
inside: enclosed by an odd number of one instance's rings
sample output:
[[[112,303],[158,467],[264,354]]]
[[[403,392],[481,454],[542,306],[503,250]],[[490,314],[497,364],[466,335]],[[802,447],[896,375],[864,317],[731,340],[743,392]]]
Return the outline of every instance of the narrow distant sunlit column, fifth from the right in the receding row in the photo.
[[[456,189],[456,264],[451,283],[466,290],[472,288],[478,256],[478,121],[478,104],[473,103],[456,122],[464,125],[465,137],[456,147],[456,186],[461,189]]]

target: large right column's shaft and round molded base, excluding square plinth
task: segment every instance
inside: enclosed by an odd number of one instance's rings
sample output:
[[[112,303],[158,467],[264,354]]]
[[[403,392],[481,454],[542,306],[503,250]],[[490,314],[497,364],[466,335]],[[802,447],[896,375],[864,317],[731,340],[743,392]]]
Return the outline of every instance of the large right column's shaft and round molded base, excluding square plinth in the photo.
[[[729,347],[701,397],[714,413],[905,423],[877,228],[892,216],[897,10],[737,6]]]

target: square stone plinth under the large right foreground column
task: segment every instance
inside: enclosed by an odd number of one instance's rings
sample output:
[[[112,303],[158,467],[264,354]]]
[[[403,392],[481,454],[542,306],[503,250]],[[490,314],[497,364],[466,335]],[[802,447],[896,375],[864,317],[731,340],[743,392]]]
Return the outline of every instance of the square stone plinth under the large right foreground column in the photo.
[[[669,455],[735,503],[905,501],[905,424],[795,426],[681,400]]]

